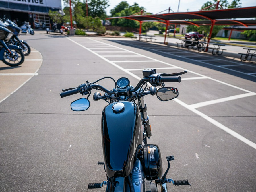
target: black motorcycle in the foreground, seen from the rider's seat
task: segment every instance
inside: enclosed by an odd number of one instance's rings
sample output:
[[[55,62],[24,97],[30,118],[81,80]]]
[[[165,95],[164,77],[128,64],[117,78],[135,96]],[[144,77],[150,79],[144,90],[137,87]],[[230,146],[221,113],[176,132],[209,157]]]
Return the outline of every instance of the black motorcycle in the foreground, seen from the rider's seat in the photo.
[[[156,73],[156,69],[144,69],[142,73],[143,79],[135,87],[130,85],[130,80],[126,77],[121,77],[116,82],[112,77],[104,77],[93,83],[86,81],[76,88],[63,89],[60,93],[61,98],[77,93],[88,95],[87,98],[80,98],[71,103],[73,111],[84,111],[90,107],[88,98],[92,89],[104,92],[104,95],[95,92],[94,101],[108,102],[102,111],[101,119],[104,162],[98,162],[104,165],[107,180],[102,183],[89,183],[88,189],[106,185],[107,192],[156,192],[160,185],[161,192],[167,192],[167,183],[190,185],[187,179],[166,178],[174,156],[166,157],[168,168],[163,174],[160,148],[156,144],[147,143],[147,138],[150,139],[152,132],[144,102],[146,95],[156,95],[160,101],[177,98],[177,88],[165,87],[164,82],[181,82],[179,75],[187,71],[166,74]],[[95,84],[105,78],[112,79],[115,88],[108,90]],[[147,83],[152,86],[147,88]],[[161,88],[157,90],[158,86]]]

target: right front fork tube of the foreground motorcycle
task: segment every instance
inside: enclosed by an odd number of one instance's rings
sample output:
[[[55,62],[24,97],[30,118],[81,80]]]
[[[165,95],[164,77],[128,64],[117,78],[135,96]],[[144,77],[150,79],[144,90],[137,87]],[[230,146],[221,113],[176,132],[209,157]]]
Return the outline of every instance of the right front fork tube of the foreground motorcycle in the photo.
[[[139,108],[140,108],[140,112],[141,112],[141,117],[142,117],[142,121],[145,127],[145,131],[146,131],[146,136],[148,137],[148,139],[150,139],[152,133],[151,133],[151,127],[150,127],[150,123],[149,123],[149,117],[147,114],[147,106],[144,102],[144,97],[141,97],[139,99]]]

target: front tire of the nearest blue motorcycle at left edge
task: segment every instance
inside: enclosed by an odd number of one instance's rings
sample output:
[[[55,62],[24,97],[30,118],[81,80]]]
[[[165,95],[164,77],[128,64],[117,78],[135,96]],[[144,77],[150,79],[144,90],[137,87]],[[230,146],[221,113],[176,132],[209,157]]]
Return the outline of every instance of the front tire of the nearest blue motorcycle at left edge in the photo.
[[[8,51],[4,53],[2,61],[11,67],[21,65],[25,59],[23,51],[20,49],[10,49],[13,52],[11,55]]]

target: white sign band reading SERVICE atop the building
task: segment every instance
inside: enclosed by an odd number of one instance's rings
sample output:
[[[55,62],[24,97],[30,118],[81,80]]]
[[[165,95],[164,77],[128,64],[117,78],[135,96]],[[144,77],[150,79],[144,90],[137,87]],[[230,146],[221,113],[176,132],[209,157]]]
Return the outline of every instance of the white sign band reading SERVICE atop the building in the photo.
[[[61,9],[61,0],[0,0],[7,1],[9,3],[20,3],[26,5],[54,7]]]

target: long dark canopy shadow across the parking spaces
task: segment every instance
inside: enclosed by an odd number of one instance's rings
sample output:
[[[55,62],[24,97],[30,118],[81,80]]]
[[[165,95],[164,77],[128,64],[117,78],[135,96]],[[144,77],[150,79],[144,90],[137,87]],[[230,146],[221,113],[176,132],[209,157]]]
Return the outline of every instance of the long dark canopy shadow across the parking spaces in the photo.
[[[228,59],[222,55],[212,55],[204,52],[189,51],[188,49],[180,49],[175,47],[167,47],[165,45],[151,44],[135,40],[108,40],[125,46],[131,46],[152,53],[184,61],[187,63],[207,67],[223,73],[228,73],[243,79],[256,82],[256,65],[252,63],[244,63],[234,59]],[[150,47],[150,48],[147,48]],[[154,47],[154,48],[152,48]],[[159,50],[157,50],[159,49]],[[176,52],[172,54],[172,52]],[[177,54],[180,52],[180,54]],[[183,54],[183,56],[182,56]],[[207,58],[207,59],[206,59]],[[175,64],[174,64],[175,65]],[[254,73],[254,74],[251,74]]]

